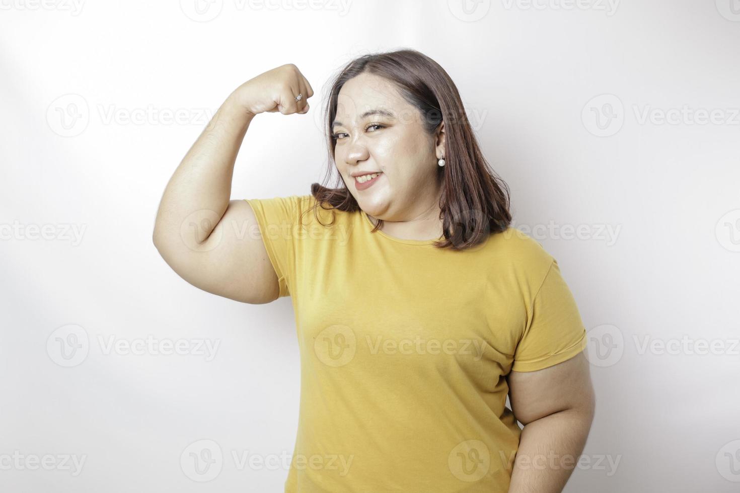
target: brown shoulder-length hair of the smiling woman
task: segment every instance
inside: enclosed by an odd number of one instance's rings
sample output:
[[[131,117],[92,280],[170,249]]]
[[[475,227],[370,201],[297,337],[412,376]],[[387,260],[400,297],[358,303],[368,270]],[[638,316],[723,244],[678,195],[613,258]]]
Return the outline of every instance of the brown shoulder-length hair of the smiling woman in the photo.
[[[434,242],[434,246],[464,250],[485,242],[491,234],[505,231],[511,223],[508,186],[483,157],[457,87],[440,64],[411,49],[354,58],[330,81],[332,89],[323,107],[329,151],[324,183],[334,174],[336,188],[312,183],[311,194],[316,199],[314,213],[318,205],[324,209],[360,211],[360,205],[336,172],[332,122],[337,114],[340,89],[346,81],[364,72],[394,83],[403,98],[419,110],[429,135],[434,135],[440,123],[445,122],[445,166],[437,166],[442,180],[439,205],[445,239]],[[323,203],[331,207],[326,208]],[[383,221],[378,220],[372,232],[382,225]]]

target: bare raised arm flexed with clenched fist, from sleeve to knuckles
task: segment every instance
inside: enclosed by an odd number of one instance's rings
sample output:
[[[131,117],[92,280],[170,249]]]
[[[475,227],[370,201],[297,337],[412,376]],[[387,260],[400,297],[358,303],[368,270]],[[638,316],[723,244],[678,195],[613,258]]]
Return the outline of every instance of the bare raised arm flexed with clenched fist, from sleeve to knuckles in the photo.
[[[300,101],[295,96],[302,94]],[[234,164],[261,112],[305,114],[313,90],[294,64],[235,89],[193,143],[164,189],[152,241],[164,261],[196,288],[240,302],[277,299],[277,275],[245,200],[230,200]],[[258,230],[257,230],[258,231]]]

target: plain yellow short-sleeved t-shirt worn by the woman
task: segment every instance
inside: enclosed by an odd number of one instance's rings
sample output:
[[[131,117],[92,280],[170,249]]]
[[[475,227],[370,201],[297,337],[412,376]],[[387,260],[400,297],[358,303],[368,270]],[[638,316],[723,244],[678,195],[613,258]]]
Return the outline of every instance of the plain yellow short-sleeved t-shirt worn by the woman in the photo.
[[[397,239],[311,195],[246,199],[291,296],[300,411],[286,493],[506,493],[511,370],[586,346],[556,260],[516,228],[470,251]],[[326,205],[328,207],[328,205]]]

